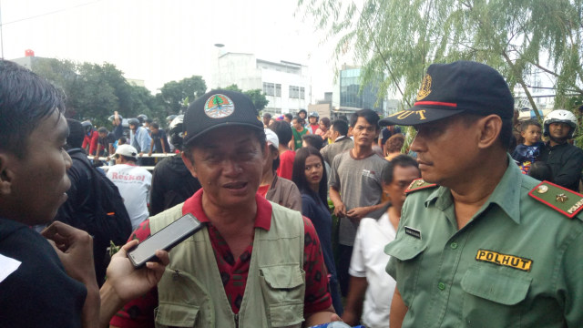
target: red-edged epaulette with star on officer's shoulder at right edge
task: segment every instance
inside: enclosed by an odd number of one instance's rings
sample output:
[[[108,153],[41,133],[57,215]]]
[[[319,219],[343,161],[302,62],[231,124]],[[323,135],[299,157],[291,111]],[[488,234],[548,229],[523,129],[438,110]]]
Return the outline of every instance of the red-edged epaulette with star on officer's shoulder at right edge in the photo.
[[[583,210],[583,195],[548,181],[540,182],[528,196],[573,219]]]

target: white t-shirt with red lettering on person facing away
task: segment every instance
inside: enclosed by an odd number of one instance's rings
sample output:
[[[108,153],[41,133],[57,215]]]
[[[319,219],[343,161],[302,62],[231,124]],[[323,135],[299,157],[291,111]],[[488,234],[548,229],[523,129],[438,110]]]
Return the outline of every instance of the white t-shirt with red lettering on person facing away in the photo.
[[[148,169],[136,165],[118,164],[107,169],[107,178],[118,186],[128,210],[131,229],[136,230],[139,223],[148,219],[149,216],[148,200],[152,174],[148,172]]]

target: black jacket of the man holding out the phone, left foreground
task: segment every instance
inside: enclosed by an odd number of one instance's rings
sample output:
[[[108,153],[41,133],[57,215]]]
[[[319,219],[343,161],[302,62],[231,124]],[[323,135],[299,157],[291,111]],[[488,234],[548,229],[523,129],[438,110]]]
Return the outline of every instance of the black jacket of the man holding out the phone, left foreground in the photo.
[[[36,231],[0,218],[0,254],[20,266],[0,282],[0,327],[77,328],[87,289]],[[5,261],[0,268],[5,269]]]

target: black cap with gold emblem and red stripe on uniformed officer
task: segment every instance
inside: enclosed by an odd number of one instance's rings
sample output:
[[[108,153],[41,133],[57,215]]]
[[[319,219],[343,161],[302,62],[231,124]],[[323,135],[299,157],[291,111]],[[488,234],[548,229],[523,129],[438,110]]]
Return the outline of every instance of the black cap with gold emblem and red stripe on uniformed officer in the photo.
[[[459,113],[514,117],[514,98],[496,69],[472,61],[427,68],[413,108],[389,115],[380,126],[419,125]]]

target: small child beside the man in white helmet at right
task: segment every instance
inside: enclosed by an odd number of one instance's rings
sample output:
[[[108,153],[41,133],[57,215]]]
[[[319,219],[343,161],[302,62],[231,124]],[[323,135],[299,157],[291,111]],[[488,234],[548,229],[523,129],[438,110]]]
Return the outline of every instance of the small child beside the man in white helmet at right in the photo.
[[[528,174],[528,170],[540,155],[543,143],[540,141],[541,127],[537,120],[530,119],[522,122],[520,136],[524,143],[517,146],[512,152],[512,158],[517,161],[522,173]]]

